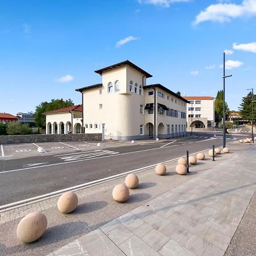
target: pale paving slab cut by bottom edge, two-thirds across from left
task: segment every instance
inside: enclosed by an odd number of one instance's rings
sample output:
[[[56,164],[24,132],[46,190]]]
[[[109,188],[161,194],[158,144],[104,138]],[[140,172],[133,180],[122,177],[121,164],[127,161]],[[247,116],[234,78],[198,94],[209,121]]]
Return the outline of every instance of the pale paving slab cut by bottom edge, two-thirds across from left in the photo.
[[[196,254],[189,251],[184,246],[180,245],[179,243],[175,242],[174,240],[170,240],[167,242],[159,251],[163,256],[196,256]]]

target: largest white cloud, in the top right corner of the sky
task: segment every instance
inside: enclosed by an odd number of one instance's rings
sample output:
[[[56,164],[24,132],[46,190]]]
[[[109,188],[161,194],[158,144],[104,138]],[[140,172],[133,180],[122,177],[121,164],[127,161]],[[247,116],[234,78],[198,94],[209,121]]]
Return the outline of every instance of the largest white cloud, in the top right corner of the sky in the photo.
[[[239,18],[242,16],[250,17],[256,15],[256,1],[255,0],[243,0],[241,5],[234,3],[217,3],[210,5],[204,11],[196,16],[194,25],[207,20],[213,22],[230,22],[233,18]]]

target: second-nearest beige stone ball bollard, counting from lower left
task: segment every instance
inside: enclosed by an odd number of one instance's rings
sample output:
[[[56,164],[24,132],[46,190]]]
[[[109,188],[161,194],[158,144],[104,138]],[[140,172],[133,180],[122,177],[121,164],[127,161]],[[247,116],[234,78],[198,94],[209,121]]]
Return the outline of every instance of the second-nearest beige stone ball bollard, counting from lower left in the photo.
[[[63,193],[58,200],[57,207],[61,213],[70,213],[76,209],[78,197],[74,192]]]

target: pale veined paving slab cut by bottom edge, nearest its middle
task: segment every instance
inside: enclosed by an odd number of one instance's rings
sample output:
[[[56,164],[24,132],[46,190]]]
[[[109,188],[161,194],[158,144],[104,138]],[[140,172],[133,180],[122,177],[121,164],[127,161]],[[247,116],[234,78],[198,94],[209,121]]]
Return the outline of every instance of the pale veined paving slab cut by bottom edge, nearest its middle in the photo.
[[[146,242],[135,235],[121,243],[119,248],[127,256],[160,256],[160,254],[147,245]]]

